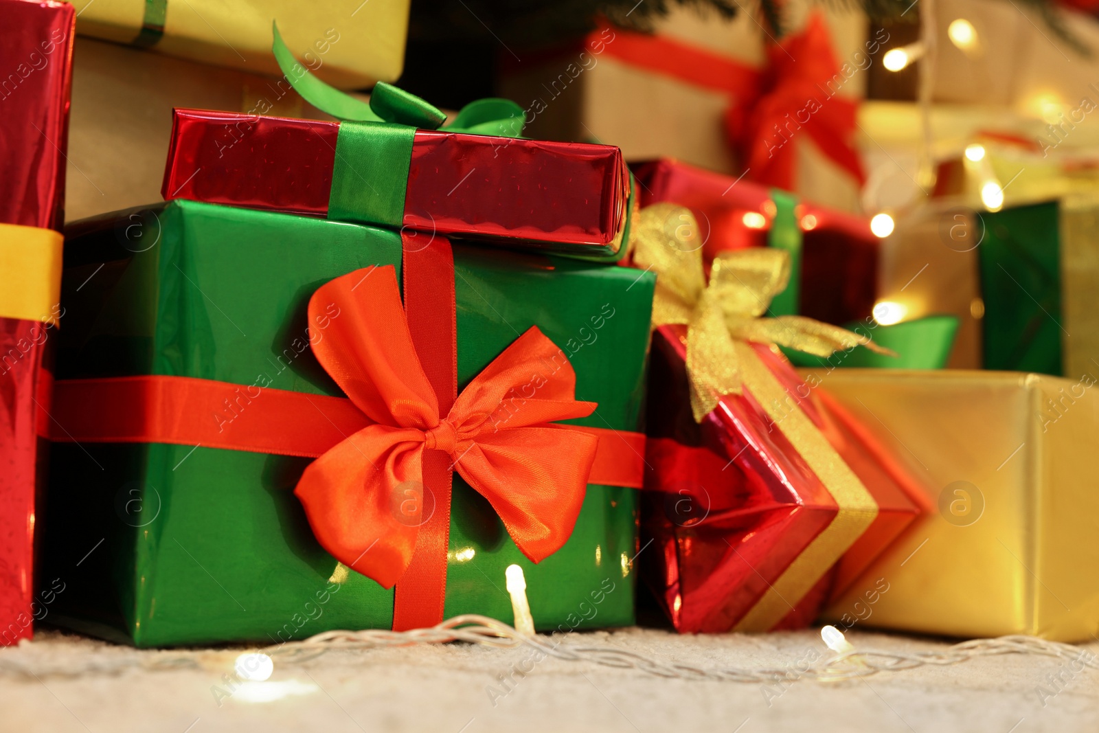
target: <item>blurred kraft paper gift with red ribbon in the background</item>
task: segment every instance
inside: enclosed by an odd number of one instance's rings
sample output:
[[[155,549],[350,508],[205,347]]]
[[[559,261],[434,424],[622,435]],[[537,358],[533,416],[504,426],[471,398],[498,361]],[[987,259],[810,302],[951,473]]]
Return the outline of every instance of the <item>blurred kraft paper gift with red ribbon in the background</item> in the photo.
[[[821,11],[814,3],[788,3],[784,19],[788,35],[803,33],[814,10]],[[675,157],[736,176],[746,164],[730,145],[726,114],[730,110],[753,113],[763,79],[773,71],[767,69],[768,53],[789,58],[786,52],[768,52],[769,41],[761,30],[766,21],[753,18],[754,12],[745,7],[736,19],[722,21],[691,8],[674,8],[656,24],[654,35],[602,27],[575,47],[545,52],[519,64],[504,59],[499,93],[526,110],[534,136],[603,142],[620,146],[630,160]],[[826,110],[850,105],[864,95],[865,71],[858,67],[875,54],[867,54],[866,21],[861,12],[840,8],[822,12],[821,27],[828,29],[840,74],[814,79],[821,88],[835,90],[835,100],[824,102],[822,109]],[[790,53],[800,56],[798,51]],[[819,48],[803,53],[821,55]],[[787,69],[792,74],[787,76],[792,79],[800,68],[809,66],[792,64]],[[844,74],[845,67],[850,74]],[[828,84],[836,78],[839,82]],[[800,87],[793,95],[797,104],[789,109],[791,119],[808,97],[824,100],[825,96],[812,85]],[[771,103],[769,109],[777,107]],[[786,111],[784,107],[782,113]],[[798,126],[787,122],[782,113],[773,121],[776,125],[788,124],[788,131]],[[852,130],[857,132],[853,125]],[[746,144],[752,135],[741,137]],[[759,124],[756,137],[764,151],[766,143],[773,142],[781,155],[792,158],[792,178],[768,182],[824,206],[858,211],[858,181],[825,155],[806,131],[797,132],[789,145],[779,144],[784,137],[767,121]],[[843,145],[848,141],[837,142]],[[761,173],[757,169],[748,178]]]

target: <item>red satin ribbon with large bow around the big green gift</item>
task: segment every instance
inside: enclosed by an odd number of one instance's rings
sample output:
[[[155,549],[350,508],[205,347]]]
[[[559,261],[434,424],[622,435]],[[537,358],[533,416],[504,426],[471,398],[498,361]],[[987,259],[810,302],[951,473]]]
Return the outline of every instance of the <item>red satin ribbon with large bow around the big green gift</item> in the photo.
[[[430,273],[413,287],[429,281],[435,281]],[[412,282],[407,278],[406,287]],[[322,286],[310,299],[310,321],[320,322],[333,303],[340,316],[330,320],[313,349],[349,399],[187,377],[62,380],[51,437],[319,456],[296,493],[332,555],[387,588],[398,579],[398,588],[411,584],[404,607],[400,593],[395,602],[395,628],[442,615],[445,527],[424,543],[441,554],[434,564],[442,571],[417,566],[421,542],[432,531],[430,520],[420,522],[425,495],[435,499],[431,519],[442,515],[449,523],[448,507],[443,511],[435,496],[440,477],[424,470],[433,454],[446,460],[443,490],[456,468],[533,562],[568,540],[588,481],[642,486],[643,435],[550,424],[590,414],[595,403],[574,399],[571,365],[559,360],[560,351],[536,327],[453,399],[444,418],[410,331],[409,321],[419,316],[407,320],[393,269],[357,270]],[[436,329],[435,336],[435,377],[443,384],[453,347],[445,333]],[[418,599],[430,602],[421,608]]]

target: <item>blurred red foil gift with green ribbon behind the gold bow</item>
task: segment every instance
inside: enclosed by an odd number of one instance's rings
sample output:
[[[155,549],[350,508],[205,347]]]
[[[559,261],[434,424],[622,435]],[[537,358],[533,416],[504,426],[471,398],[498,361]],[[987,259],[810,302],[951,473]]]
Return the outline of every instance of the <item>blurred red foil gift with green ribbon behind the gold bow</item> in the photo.
[[[785,223],[789,230],[785,236],[797,238],[785,246],[800,252],[793,278],[798,290],[792,293],[800,306],[789,312],[825,323],[870,315],[877,300],[880,247],[866,219],[797,202],[790,195],[743,177],[671,158],[631,164],[631,169],[641,184],[642,207],[671,201],[691,210],[708,258],[725,249],[762,246],[768,240],[774,245],[770,235],[777,233],[776,224]]]

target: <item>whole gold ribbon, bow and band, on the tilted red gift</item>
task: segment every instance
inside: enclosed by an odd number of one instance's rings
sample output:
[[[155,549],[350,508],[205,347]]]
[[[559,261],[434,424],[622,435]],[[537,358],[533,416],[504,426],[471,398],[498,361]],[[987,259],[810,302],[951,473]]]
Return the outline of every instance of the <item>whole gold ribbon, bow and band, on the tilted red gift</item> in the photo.
[[[709,281],[702,243],[689,209],[657,203],[643,209],[631,240],[634,263],[657,274],[653,325],[687,325],[691,411],[701,422],[726,395],[744,388],[763,406],[839,506],[832,522],[740,620],[734,631],[767,631],[789,613],[863,532],[878,507],[863,482],[801,409],[751,343],[788,346],[817,356],[863,345],[865,336],[800,315],[762,318],[790,279],[789,255],[756,247],[714,258]]]

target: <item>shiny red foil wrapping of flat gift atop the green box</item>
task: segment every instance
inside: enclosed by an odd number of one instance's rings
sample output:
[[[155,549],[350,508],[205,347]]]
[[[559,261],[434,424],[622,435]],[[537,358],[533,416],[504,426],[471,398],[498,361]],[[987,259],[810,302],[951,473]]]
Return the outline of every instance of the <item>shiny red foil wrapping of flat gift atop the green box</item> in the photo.
[[[338,122],[175,110],[162,193],[326,215]],[[403,225],[475,238],[606,247],[629,176],[610,145],[419,130]]]

